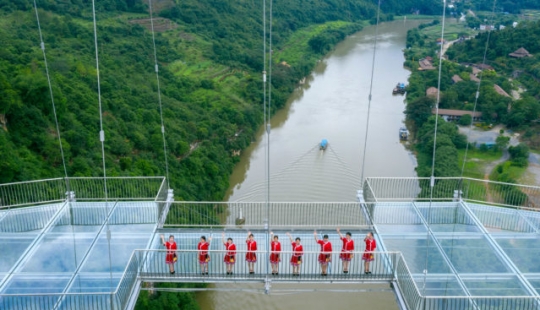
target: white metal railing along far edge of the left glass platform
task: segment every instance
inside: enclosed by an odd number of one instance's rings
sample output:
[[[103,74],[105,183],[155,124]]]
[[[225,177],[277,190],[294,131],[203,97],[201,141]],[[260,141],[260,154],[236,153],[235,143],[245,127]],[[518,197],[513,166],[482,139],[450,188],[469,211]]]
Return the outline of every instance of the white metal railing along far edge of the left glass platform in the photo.
[[[156,195],[163,192],[164,180],[164,177],[109,177],[108,199],[156,200]],[[69,192],[78,201],[103,201],[103,178],[70,177],[0,184],[0,208],[61,202]]]

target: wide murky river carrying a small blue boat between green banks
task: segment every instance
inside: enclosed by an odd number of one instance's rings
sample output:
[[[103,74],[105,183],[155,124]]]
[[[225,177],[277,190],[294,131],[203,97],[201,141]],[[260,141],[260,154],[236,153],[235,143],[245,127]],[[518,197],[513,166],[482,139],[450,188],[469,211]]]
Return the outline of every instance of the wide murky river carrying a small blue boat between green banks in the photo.
[[[393,96],[392,89],[396,83],[408,79],[402,49],[407,30],[419,23],[395,21],[379,25],[364,177],[416,176],[415,158],[398,137],[405,118],[404,97]],[[294,91],[286,107],[271,119],[271,201],[355,200],[356,190],[360,188],[374,39],[375,27],[371,26],[341,42]],[[323,138],[329,142],[324,152],[317,147]],[[231,175],[226,200],[266,199],[267,147],[261,128],[257,140],[241,154]],[[261,289],[262,285],[242,287]],[[302,288],[316,290],[325,286]],[[199,293],[197,299],[202,309],[216,310],[397,309],[391,292],[263,295],[209,291]]]

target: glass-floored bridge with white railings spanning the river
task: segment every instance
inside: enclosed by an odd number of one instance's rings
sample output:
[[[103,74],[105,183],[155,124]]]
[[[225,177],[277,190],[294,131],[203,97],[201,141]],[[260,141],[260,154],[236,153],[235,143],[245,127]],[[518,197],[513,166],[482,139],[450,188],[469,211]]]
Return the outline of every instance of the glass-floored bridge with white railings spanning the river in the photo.
[[[350,203],[175,202],[166,180],[59,178],[0,185],[1,309],[132,309],[143,282],[388,283],[403,309],[539,309],[540,188],[467,178],[368,178]],[[430,198],[430,186],[433,196]],[[279,273],[268,261],[270,229],[282,243]],[[342,272],[336,228],[356,243]],[[328,275],[318,237],[333,244]],[[244,261],[247,232],[258,261]],[[378,247],[366,274],[363,237]],[[291,244],[304,259],[292,276]],[[222,233],[237,245],[226,273]],[[178,244],[175,274],[160,235]],[[212,237],[208,274],[197,242]]]

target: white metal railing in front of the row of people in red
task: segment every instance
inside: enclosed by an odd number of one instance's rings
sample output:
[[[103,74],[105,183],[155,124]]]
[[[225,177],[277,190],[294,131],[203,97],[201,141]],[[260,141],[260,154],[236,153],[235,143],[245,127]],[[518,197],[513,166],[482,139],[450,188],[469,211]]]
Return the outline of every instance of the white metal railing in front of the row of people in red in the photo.
[[[290,247],[290,245],[288,245]],[[256,251],[257,262],[254,263],[253,271],[250,273],[248,263],[246,262],[247,250],[237,250],[234,255],[226,250],[209,250],[207,262],[207,275],[202,275],[199,262],[198,250],[177,250],[177,261],[173,264],[175,273],[170,274],[169,266],[165,263],[167,250],[135,250],[135,256],[132,259],[142,262],[139,266],[139,276],[141,280],[186,280],[186,282],[208,281],[211,279],[225,280],[263,280],[267,274],[272,275],[272,268],[269,267],[269,254],[267,251]],[[394,278],[395,265],[398,259],[401,259],[400,252],[372,252],[373,261],[370,263],[369,271],[366,274],[362,256],[364,252],[352,252],[353,259],[349,264],[348,273],[343,273],[342,262],[339,258],[340,252],[334,251],[324,254],[324,259],[329,260],[327,275],[322,276],[321,266],[319,264],[320,252],[304,251],[301,263],[299,265],[300,276],[293,276],[293,266],[291,265],[292,251],[279,252],[280,262],[278,263],[278,274],[272,275],[273,280],[300,280],[317,281],[328,279],[331,281],[360,282],[360,281],[383,281],[388,282]],[[232,275],[227,274],[227,263],[233,259]],[[206,261],[206,259],[205,259]]]

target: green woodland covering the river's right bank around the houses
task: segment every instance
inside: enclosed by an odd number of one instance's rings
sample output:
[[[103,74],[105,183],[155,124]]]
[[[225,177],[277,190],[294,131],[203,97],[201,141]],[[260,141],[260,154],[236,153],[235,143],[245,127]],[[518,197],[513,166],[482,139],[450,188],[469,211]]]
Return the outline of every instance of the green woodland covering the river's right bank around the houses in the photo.
[[[423,26],[434,27],[438,22]],[[465,23],[463,23],[465,25]],[[422,27],[421,27],[422,28]],[[488,32],[482,32],[475,38],[456,40],[443,60],[440,80],[441,109],[472,111],[479,88],[476,111],[482,112],[482,122],[476,125],[490,128],[494,124],[504,124],[512,130],[522,133],[521,141],[526,141],[533,148],[540,147],[540,22],[520,21],[516,28],[512,26],[494,30],[490,34],[486,63],[484,51]],[[456,38],[453,38],[456,39]],[[432,108],[436,102],[436,88],[439,85],[439,66],[437,51],[440,45],[433,38],[428,38],[421,31],[409,31],[405,52],[406,65],[412,69],[407,89],[407,107],[405,114],[410,127],[415,133],[419,176],[431,175],[433,154],[434,116]],[[510,54],[519,48],[525,48],[529,54],[516,57]],[[434,70],[416,70],[418,60],[432,57]],[[428,88],[435,89],[428,93]],[[461,125],[469,125],[471,117],[460,120]],[[499,138],[504,138],[502,135]],[[504,149],[508,140],[497,138],[493,151]],[[437,153],[435,176],[458,176],[460,152],[466,147],[465,137],[459,134],[456,124],[439,119],[437,131]],[[478,146],[487,152],[487,146]],[[497,167],[497,172],[490,177],[497,181],[516,183],[517,178],[507,172],[510,166],[526,167],[528,147],[519,145],[510,147],[511,161]],[[527,155],[523,155],[527,154]],[[524,168],[523,168],[524,169]],[[523,171],[523,170],[522,170]],[[521,193],[517,193],[520,195]]]

